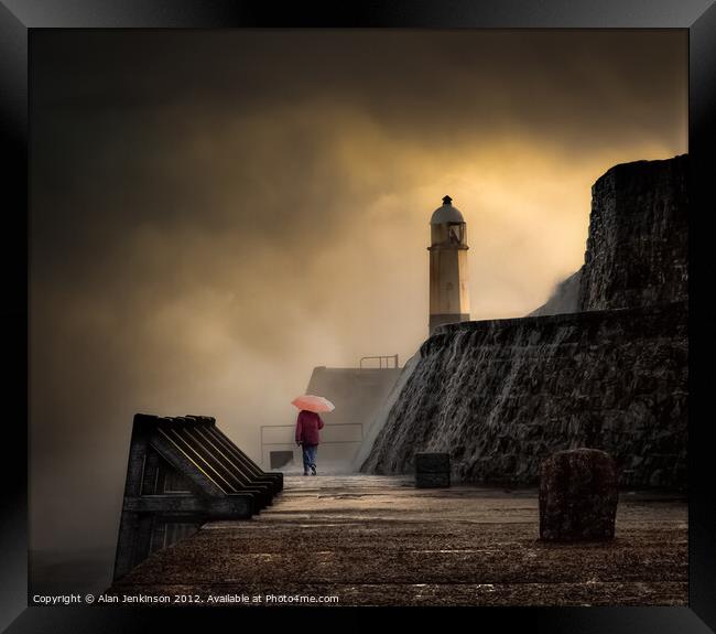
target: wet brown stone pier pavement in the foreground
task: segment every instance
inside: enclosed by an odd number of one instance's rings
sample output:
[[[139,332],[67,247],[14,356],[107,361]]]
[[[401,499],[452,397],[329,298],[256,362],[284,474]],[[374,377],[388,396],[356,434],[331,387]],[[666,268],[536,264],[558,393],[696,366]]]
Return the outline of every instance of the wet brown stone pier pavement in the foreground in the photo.
[[[536,490],[288,476],[260,515],[206,524],[108,593],[207,605],[687,603],[683,497],[621,494],[609,542],[538,537]]]

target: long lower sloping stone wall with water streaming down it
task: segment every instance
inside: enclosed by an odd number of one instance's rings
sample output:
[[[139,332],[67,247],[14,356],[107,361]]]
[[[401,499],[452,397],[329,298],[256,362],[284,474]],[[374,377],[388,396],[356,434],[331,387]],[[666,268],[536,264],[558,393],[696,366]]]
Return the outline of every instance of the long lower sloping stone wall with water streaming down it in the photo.
[[[630,486],[686,476],[686,303],[445,325],[362,465],[410,473],[448,452],[453,477],[534,484],[554,451],[609,452]]]

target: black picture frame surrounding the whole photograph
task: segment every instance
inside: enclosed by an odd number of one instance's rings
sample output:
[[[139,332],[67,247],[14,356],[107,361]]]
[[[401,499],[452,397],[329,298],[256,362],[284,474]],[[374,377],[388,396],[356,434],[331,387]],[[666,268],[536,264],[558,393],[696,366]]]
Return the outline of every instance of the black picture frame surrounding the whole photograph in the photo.
[[[347,0],[326,4],[240,0],[0,0],[0,152],[3,161],[3,246],[0,249],[4,302],[2,319],[2,383],[4,426],[0,461],[4,503],[0,518],[0,626],[9,632],[128,632],[160,627],[170,621],[210,627],[227,617],[234,627],[263,621],[269,612],[301,626],[305,616],[291,608],[119,609],[28,606],[28,477],[8,454],[28,448],[28,69],[29,35],[35,29],[89,28],[673,28],[688,30],[692,212],[690,225],[690,599],[687,608],[475,608],[478,630],[524,626],[536,632],[661,633],[716,631],[716,475],[710,469],[709,413],[715,410],[713,373],[716,312],[710,287],[715,264],[709,223],[716,213],[710,161],[714,158],[716,112],[716,7],[714,0]],[[694,368],[705,368],[695,372]],[[23,422],[24,421],[24,422]],[[347,621],[347,611],[351,620]],[[425,624],[449,626],[445,611],[421,609]],[[314,610],[317,620],[334,626],[375,624],[384,609]],[[12,622],[12,624],[10,624]]]

